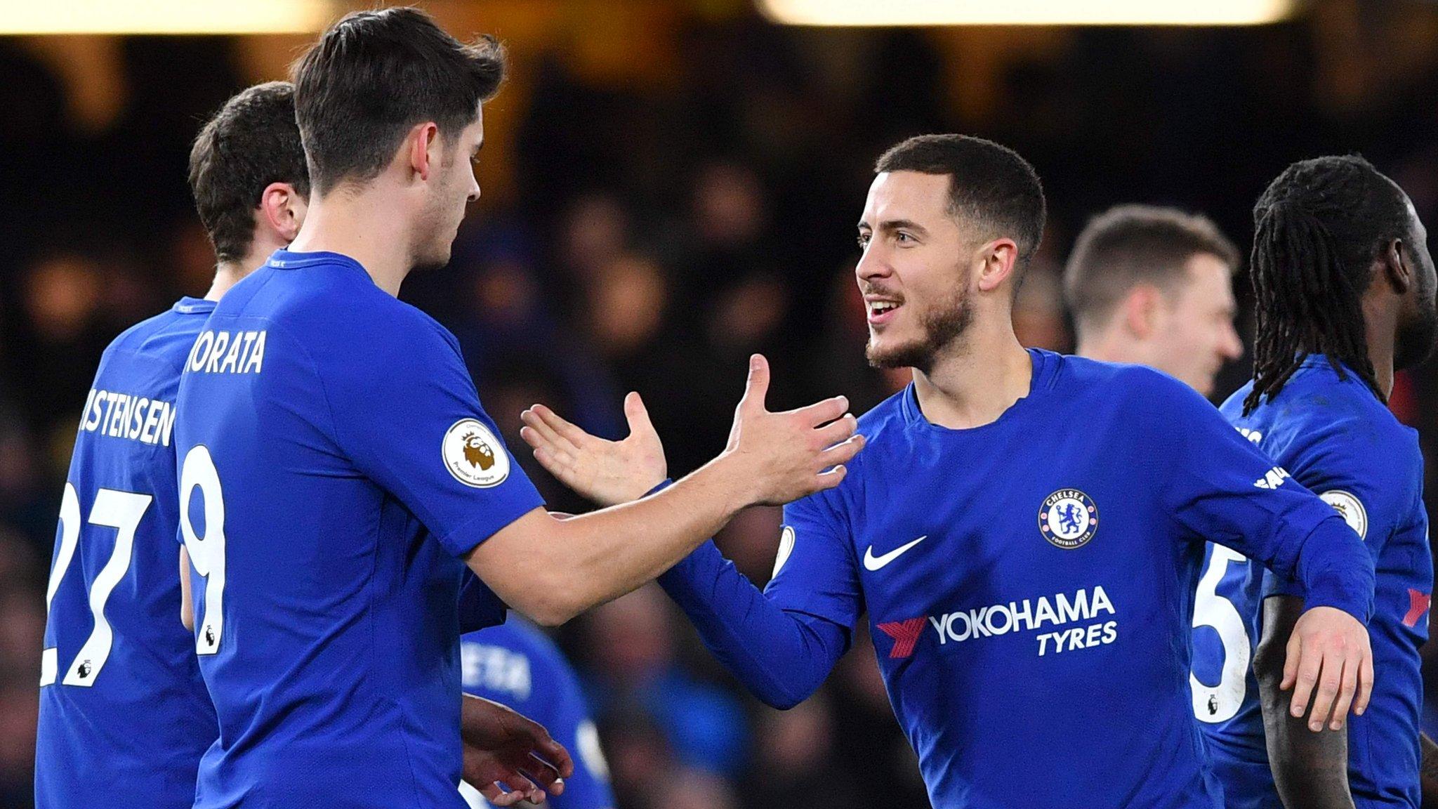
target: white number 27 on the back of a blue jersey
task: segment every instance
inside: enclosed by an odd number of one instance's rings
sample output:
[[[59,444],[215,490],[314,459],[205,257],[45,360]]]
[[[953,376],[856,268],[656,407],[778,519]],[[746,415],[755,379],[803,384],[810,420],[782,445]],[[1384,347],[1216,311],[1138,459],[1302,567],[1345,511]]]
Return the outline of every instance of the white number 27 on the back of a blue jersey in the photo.
[[[115,586],[129,570],[131,553],[135,547],[135,530],[144,518],[154,498],[148,494],[135,494],[115,489],[99,489],[95,492],[95,505],[91,507],[91,525],[115,528],[115,550],[109,554],[109,561],[95,576],[91,583],[89,605],[95,616],[95,629],[81,646],[75,661],[65,669],[65,685],[95,685],[109,651],[115,645],[115,631],[105,619],[105,602],[115,592]],[[81,544],[81,498],[75,494],[73,484],[65,484],[65,495],[60,498],[60,553],[56,554],[55,569],[50,570],[50,584],[45,590],[46,620],[49,620],[50,602],[55,592],[60,589],[65,573],[75,559],[75,548]],[[40,652],[40,685],[53,685],[59,674],[59,649],[50,646]]]

